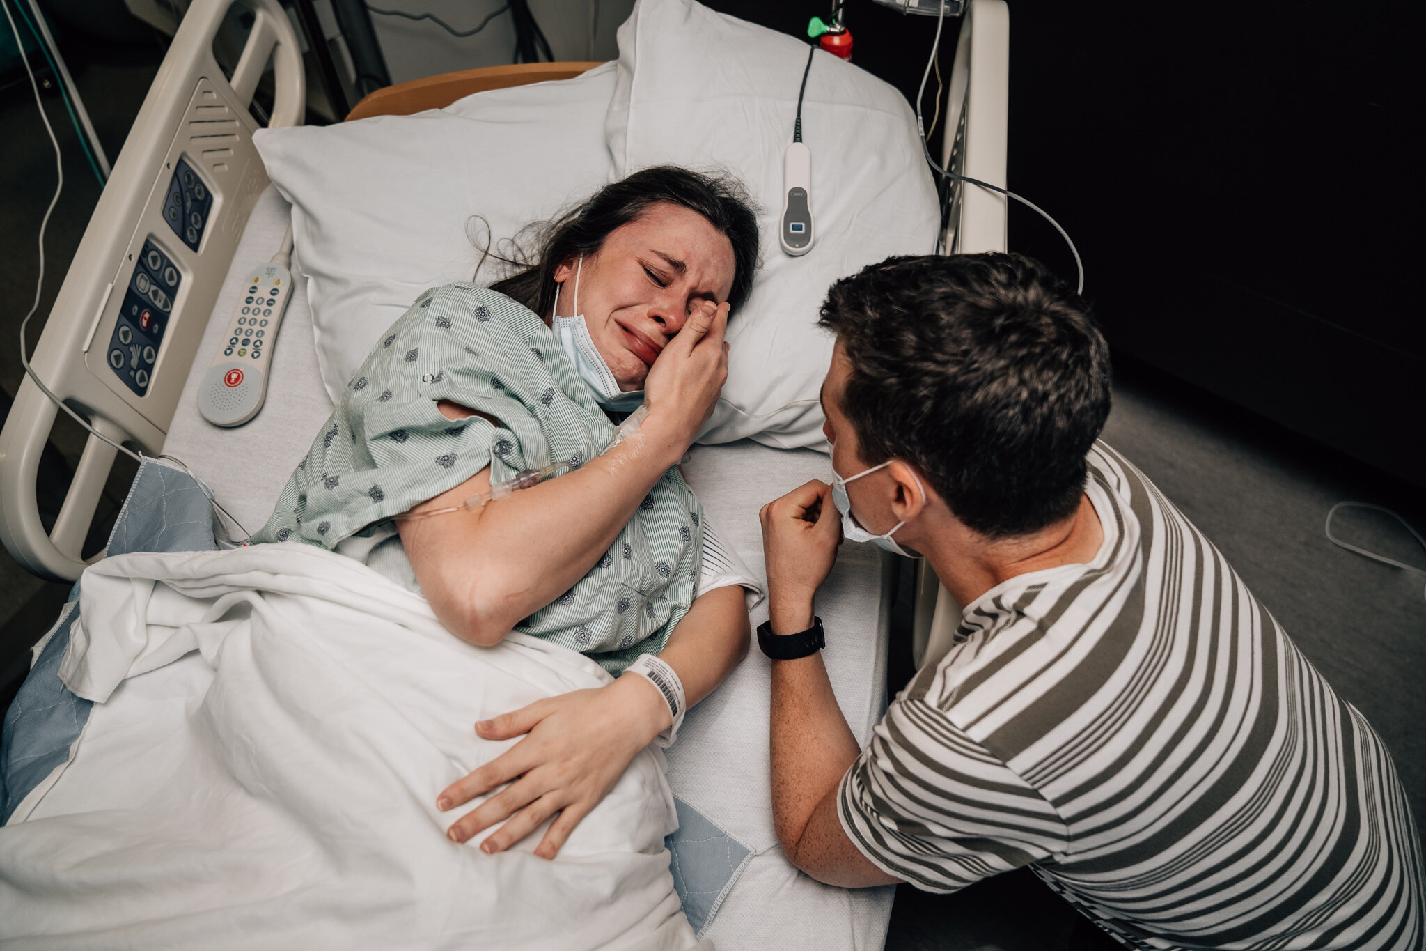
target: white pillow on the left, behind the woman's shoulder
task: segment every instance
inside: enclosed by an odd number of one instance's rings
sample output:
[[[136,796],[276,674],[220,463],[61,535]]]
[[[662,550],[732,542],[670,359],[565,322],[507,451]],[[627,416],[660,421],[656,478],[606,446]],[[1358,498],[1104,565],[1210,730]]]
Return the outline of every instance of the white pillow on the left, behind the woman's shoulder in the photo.
[[[609,181],[613,90],[609,63],[415,115],[257,133],[268,175],[292,204],[317,362],[334,402],[421,291],[471,279],[481,258],[468,235],[473,215],[499,241]],[[479,282],[499,274],[486,264]]]

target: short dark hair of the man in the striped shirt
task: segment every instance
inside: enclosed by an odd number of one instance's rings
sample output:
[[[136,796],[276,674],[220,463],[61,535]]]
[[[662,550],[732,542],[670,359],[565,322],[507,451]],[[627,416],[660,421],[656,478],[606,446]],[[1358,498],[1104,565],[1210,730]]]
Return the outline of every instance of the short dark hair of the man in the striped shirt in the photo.
[[[906,459],[990,538],[1074,513],[1109,415],[1109,348],[1042,265],[887,258],[837,281],[820,325],[850,358],[838,408],[868,465]]]

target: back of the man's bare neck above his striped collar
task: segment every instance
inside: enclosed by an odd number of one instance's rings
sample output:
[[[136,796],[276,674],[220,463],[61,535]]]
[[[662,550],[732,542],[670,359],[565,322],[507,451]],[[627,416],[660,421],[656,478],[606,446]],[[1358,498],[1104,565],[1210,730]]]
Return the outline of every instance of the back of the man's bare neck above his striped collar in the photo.
[[[935,528],[917,548],[961,606],[1017,575],[1091,562],[1104,543],[1104,526],[1087,495],[1068,519],[1012,539],[987,540],[954,518]]]

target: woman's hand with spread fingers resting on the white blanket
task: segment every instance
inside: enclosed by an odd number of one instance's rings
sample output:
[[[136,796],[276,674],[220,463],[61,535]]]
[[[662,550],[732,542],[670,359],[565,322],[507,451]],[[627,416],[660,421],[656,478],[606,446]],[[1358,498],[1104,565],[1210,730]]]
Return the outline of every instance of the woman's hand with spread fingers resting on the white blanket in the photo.
[[[535,854],[553,858],[575,826],[605,798],[623,771],[660,730],[669,707],[659,689],[637,674],[603,687],[575,690],[475,724],[486,740],[523,740],[436,798],[442,811],[509,783],[462,816],[446,834],[463,843],[506,817],[481,843],[485,853],[509,848],[555,813]]]

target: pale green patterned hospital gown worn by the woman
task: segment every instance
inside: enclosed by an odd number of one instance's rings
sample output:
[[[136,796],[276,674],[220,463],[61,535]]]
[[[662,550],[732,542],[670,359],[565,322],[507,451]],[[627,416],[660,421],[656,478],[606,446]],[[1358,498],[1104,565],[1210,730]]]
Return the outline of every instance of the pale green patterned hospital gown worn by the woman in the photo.
[[[446,419],[442,399],[503,425]],[[376,344],[252,540],[321,545],[415,589],[391,516],[486,466],[492,483],[552,461],[578,466],[612,433],[535,314],[503,294],[449,284],[424,292]],[[595,567],[515,630],[592,654],[615,674],[660,652],[693,602],[702,519],[669,469]]]

